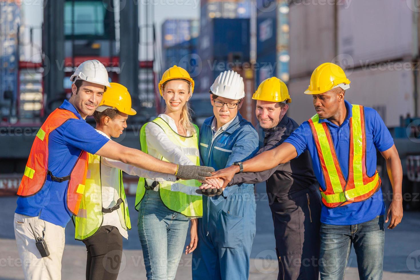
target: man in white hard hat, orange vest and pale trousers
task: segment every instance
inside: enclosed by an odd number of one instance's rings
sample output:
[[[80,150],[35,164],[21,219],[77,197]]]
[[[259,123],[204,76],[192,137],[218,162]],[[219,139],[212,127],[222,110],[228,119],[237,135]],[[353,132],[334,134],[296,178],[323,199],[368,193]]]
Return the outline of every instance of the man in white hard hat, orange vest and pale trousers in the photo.
[[[87,153],[186,179],[204,179],[214,170],[157,160],[108,139],[86,123],[110,87],[108,73],[98,60],[81,63],[70,80],[72,95],[39,129],[18,189],[14,228],[25,279],[61,278],[64,228],[78,214]],[[38,251],[34,235],[45,239],[49,254]]]

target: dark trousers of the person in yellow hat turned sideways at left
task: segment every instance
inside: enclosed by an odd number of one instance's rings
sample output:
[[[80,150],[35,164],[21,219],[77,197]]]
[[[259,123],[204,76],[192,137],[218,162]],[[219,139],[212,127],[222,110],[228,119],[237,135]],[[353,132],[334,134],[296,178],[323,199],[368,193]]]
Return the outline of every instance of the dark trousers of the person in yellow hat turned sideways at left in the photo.
[[[87,249],[86,280],[117,279],[123,253],[118,228],[104,225],[83,242]]]

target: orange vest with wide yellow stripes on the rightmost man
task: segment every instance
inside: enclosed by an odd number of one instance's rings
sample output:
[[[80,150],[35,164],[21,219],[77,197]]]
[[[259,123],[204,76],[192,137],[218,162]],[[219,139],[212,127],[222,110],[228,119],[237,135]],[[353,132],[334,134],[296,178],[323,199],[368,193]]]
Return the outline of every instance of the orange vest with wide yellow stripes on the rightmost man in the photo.
[[[325,179],[326,189],[321,191],[322,202],[327,207],[338,207],[369,199],[381,187],[378,170],[372,177],[366,174],[366,130],[363,106],[352,105],[350,125],[349,175],[341,171],[330,130],[319,123],[319,116],[310,118],[309,124]]]

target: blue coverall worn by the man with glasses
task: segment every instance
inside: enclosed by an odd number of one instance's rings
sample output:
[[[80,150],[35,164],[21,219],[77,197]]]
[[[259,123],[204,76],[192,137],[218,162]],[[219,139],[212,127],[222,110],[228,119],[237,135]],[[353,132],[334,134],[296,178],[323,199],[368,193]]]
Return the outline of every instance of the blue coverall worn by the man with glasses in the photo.
[[[200,129],[201,165],[219,170],[254,156],[258,135],[251,123],[238,113],[226,130],[213,139],[213,118],[207,118]],[[198,246],[192,256],[194,280],[248,279],[256,231],[255,209],[253,184],[230,186],[220,196],[203,195]]]

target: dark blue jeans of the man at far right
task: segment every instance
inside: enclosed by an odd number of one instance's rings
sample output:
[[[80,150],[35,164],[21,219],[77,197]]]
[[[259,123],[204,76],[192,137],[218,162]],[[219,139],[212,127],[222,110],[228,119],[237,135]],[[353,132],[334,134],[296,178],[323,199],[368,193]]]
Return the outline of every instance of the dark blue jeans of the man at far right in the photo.
[[[385,223],[383,215],[356,225],[321,224],[320,274],[322,280],[344,279],[350,249],[357,256],[359,278],[382,279]]]

